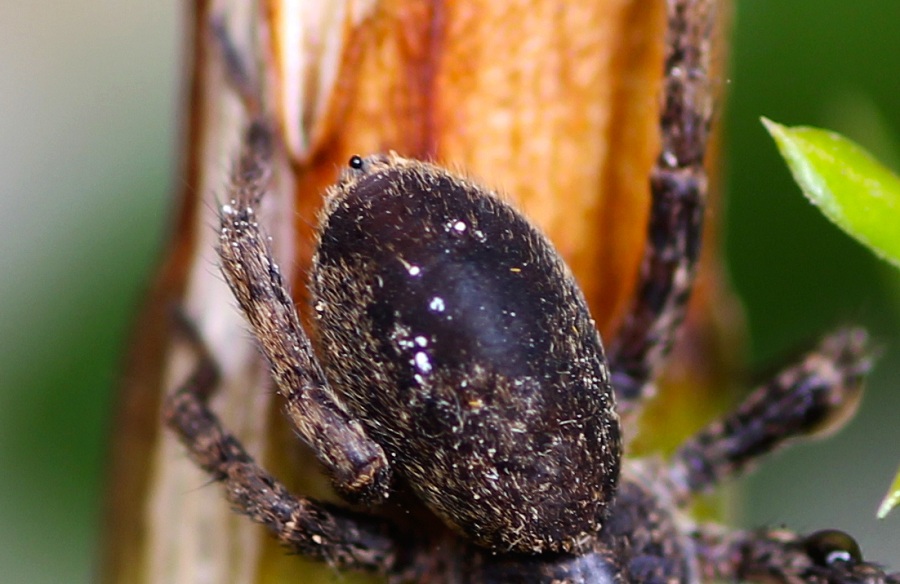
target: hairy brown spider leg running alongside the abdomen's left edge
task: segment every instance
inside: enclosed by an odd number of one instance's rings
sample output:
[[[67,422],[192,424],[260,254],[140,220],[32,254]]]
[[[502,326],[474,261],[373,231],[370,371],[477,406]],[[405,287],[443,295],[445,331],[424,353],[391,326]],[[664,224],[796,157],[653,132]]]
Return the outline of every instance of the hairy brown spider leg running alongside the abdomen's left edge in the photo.
[[[339,493],[350,501],[376,503],[388,494],[387,457],[329,387],[257,222],[273,142],[264,123],[251,124],[233,172],[230,200],[221,207],[222,273],[269,362],[300,437],[328,469]]]

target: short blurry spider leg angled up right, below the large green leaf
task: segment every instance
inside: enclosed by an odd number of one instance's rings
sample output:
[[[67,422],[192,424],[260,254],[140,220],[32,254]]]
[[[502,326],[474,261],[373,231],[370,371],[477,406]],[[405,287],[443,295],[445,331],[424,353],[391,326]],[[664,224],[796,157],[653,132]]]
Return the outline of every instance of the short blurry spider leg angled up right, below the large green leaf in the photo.
[[[707,491],[793,438],[832,432],[854,413],[872,364],[868,336],[842,329],[687,440],[670,460],[680,497]]]

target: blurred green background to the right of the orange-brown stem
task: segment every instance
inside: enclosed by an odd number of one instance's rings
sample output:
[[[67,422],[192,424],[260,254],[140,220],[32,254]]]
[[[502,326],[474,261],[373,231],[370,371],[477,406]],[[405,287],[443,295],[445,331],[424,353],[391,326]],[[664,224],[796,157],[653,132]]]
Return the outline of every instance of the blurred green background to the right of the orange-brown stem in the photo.
[[[845,529],[867,556],[900,570],[900,513],[874,518],[900,463],[900,279],[807,203],[758,121],[838,130],[900,170],[900,2],[742,0],[737,7],[727,251],[752,362],[769,363],[843,322],[865,324],[885,349],[851,425],[775,456],[752,476],[745,521]]]

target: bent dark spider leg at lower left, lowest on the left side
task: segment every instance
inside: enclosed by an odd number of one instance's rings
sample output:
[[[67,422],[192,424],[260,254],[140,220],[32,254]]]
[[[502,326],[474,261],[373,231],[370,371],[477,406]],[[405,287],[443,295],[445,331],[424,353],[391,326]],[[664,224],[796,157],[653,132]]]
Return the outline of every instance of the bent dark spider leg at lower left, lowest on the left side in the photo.
[[[199,363],[167,398],[163,415],[191,458],[222,483],[236,510],[264,525],[291,551],[333,566],[397,573],[398,550],[404,546],[386,520],[293,496],[222,428],[207,405],[219,382],[218,368],[190,323],[181,320],[179,328]]]

